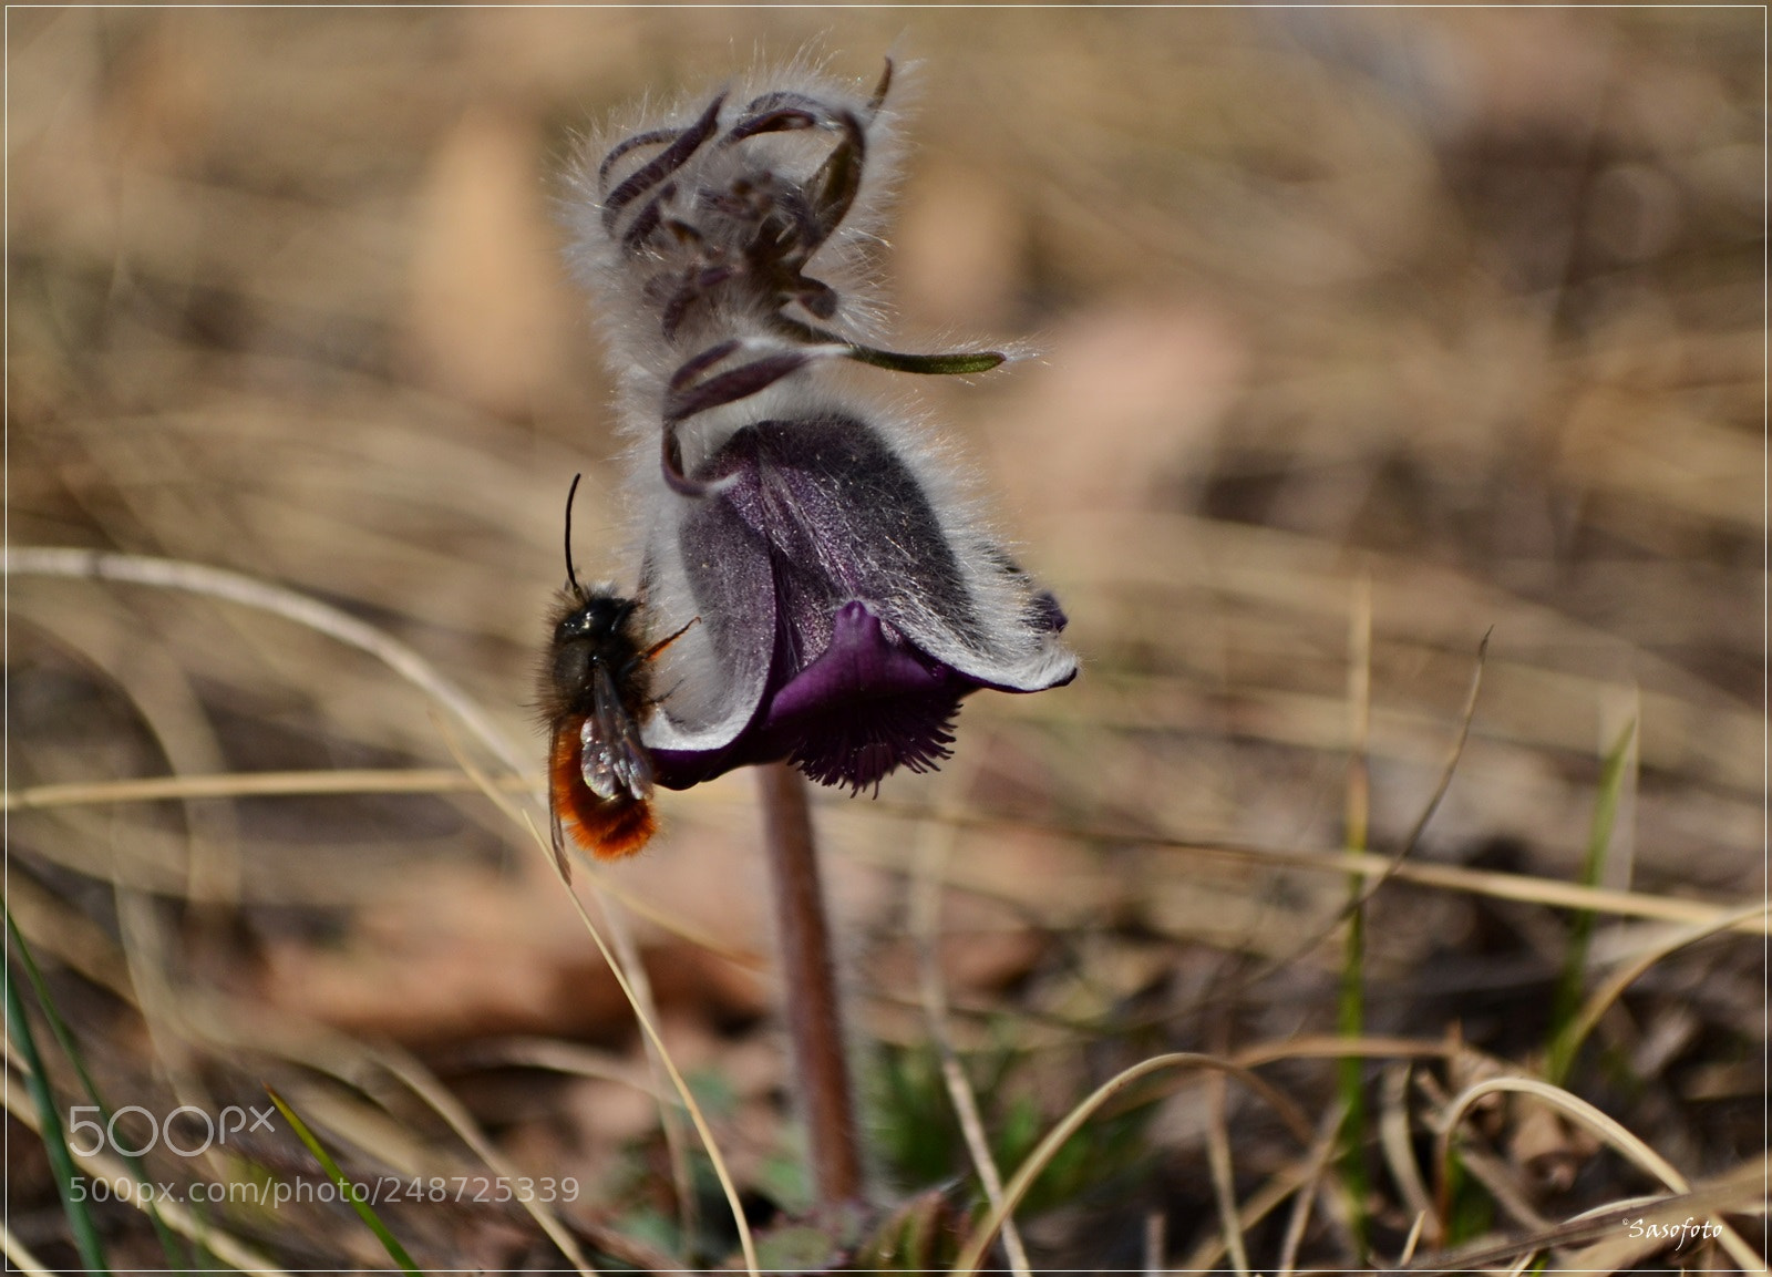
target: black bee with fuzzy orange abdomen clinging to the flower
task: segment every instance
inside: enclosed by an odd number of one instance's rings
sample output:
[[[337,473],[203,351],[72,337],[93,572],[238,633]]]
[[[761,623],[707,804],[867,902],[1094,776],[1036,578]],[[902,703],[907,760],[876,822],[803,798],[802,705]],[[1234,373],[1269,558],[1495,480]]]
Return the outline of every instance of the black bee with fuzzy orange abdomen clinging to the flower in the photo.
[[[565,498],[565,590],[551,615],[537,703],[548,724],[548,815],[555,859],[571,875],[565,834],[599,859],[633,855],[652,838],[652,756],[640,724],[657,703],[649,666],[695,625],[641,646],[643,604],[613,586],[587,588],[572,569],[572,476]]]

